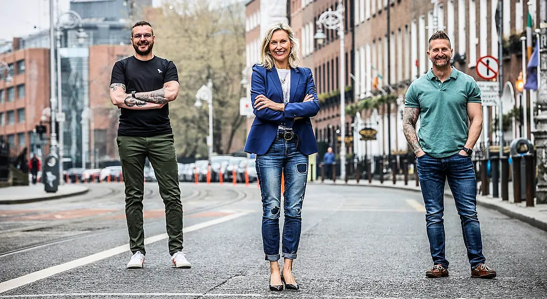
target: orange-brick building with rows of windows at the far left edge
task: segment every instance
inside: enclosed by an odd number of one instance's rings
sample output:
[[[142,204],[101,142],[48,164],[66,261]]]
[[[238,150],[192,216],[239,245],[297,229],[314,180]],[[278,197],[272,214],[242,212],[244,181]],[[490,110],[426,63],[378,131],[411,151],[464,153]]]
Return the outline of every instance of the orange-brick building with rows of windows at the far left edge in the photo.
[[[14,39],[13,51],[0,54],[2,61],[8,70],[0,73],[0,136],[9,143],[11,156],[24,148],[31,153],[40,146],[34,126],[49,107],[49,50],[19,49],[19,39]]]

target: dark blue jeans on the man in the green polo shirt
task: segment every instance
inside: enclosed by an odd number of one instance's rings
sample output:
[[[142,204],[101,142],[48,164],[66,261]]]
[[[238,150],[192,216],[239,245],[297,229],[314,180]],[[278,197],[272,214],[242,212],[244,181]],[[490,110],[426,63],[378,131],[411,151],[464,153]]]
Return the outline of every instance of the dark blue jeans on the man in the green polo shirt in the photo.
[[[418,178],[426,205],[427,237],[434,264],[448,268],[445,256],[444,187],[448,179],[462,224],[463,242],[472,268],[485,262],[476,212],[476,179],[471,157],[455,154],[434,158],[428,154],[417,159]]]

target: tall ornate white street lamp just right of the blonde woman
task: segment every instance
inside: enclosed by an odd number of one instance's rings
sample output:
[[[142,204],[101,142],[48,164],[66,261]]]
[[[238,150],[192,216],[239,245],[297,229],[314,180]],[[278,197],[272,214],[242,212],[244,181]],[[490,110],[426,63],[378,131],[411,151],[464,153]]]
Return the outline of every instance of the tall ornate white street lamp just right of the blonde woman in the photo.
[[[346,99],[345,99],[345,87],[346,87],[346,57],[344,49],[344,5],[342,0],[338,1],[338,7],[335,11],[329,9],[325,11],[319,19],[317,20],[317,32],[314,39],[317,40],[318,44],[323,44],[324,40],[327,38],[325,33],[323,33],[322,26],[327,29],[337,30],[338,36],[340,37],[340,177],[344,178],[346,176]]]

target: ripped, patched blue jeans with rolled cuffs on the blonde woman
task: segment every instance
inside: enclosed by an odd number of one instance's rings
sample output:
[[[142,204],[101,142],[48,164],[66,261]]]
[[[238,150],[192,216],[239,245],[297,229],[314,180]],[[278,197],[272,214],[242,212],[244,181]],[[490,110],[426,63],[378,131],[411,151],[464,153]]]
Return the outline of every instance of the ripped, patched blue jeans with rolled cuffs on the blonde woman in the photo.
[[[280,259],[279,218],[281,216],[281,173],[283,194],[283,257],[296,259],[302,227],[302,201],[306,190],[308,156],[298,150],[298,137],[285,140],[277,136],[264,155],[257,155],[257,175],[262,195],[262,241],[266,261]]]

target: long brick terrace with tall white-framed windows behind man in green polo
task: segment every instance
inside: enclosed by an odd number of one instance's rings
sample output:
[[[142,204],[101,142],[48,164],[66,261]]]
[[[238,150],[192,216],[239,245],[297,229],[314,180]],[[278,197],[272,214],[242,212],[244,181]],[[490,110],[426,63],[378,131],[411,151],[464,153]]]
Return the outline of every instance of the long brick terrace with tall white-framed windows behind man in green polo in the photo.
[[[386,9],[388,1],[389,33]],[[300,39],[301,66],[312,69],[321,102],[321,111],[313,118],[319,154],[328,145],[336,144],[336,153],[339,148],[336,140],[341,122],[340,44],[339,37],[333,30],[324,30],[327,34],[324,45],[319,45],[313,36],[316,33],[318,17],[328,9],[336,10],[338,3],[337,0],[287,2],[289,24]],[[452,65],[472,75],[475,80],[484,80],[476,73],[478,58],[485,55],[499,56],[495,18],[497,0],[439,0],[436,4],[430,0],[344,0],[342,3],[345,6],[346,86],[343,90],[346,92],[346,105],[356,105],[366,98],[383,100],[376,102],[370,109],[346,113],[346,136],[350,137],[350,143],[347,143],[350,154],[371,156],[387,155],[389,149],[391,153],[407,151],[402,130],[404,93],[412,80],[432,67],[426,51],[428,39],[435,30],[444,30],[451,39],[454,52]],[[521,99],[521,93],[515,89],[515,80],[522,71],[522,47],[519,39],[521,35],[526,35],[528,9],[535,16],[532,19],[539,20],[539,9],[536,9],[539,1],[524,5],[523,0],[503,0],[503,5],[502,71],[505,93],[502,100],[503,113],[507,116],[506,119],[511,119],[511,110],[515,105],[520,105]],[[248,10],[250,7],[251,5],[247,5]],[[538,22],[533,23],[533,28],[537,27]],[[256,54],[253,49],[247,50],[247,59],[250,57],[253,60],[252,57]],[[249,61],[248,64],[252,65]],[[388,93],[390,96],[386,96]],[[385,102],[389,102],[391,113],[388,113]],[[487,128],[492,129],[497,113],[497,109],[493,108],[484,110],[490,110],[491,113],[484,121],[483,136],[479,141],[484,140]],[[366,145],[360,141],[358,131],[362,127],[375,128],[376,140],[369,141]],[[505,140],[510,140],[525,133],[513,118],[504,134]],[[490,137],[496,140],[497,132],[490,130]]]

